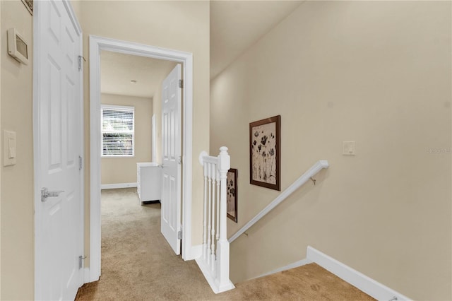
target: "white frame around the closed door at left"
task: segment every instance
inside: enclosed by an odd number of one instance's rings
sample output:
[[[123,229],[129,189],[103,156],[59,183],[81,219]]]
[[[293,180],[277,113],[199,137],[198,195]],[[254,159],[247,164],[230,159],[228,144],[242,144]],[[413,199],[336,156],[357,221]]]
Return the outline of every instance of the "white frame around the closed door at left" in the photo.
[[[66,12],[69,15],[69,18],[71,20],[71,23],[73,24],[73,27],[76,31],[76,35],[77,37],[80,37],[81,41],[80,41],[80,49],[78,54],[82,55],[83,54],[83,32],[82,32],[82,28],[80,23],[78,23],[78,19],[76,16],[76,13],[73,11],[71,2],[69,0],[61,0],[61,2],[64,5],[64,8],[66,8]],[[33,46],[32,46],[32,53],[33,53],[33,62],[32,62],[32,66],[33,66],[33,81],[32,81],[32,99],[33,99],[33,170],[34,170],[34,207],[35,207],[35,299],[39,299],[40,297],[40,292],[41,292],[41,288],[40,288],[40,283],[38,281],[42,269],[45,268],[45,266],[42,266],[42,264],[40,263],[40,254],[42,254],[42,252],[45,252],[45,246],[42,246],[42,244],[40,243],[40,237],[41,237],[41,233],[40,233],[40,225],[42,223],[42,216],[41,216],[41,211],[40,211],[40,203],[41,203],[41,167],[40,167],[40,145],[41,145],[41,141],[40,141],[40,114],[39,114],[39,110],[40,110],[40,90],[38,90],[38,86],[40,84],[40,76],[39,76],[39,71],[40,68],[42,66],[42,64],[44,63],[43,61],[40,61],[40,45],[42,43],[41,37],[39,35],[39,30],[40,30],[40,18],[41,18],[41,14],[40,14],[40,1],[35,1],[34,4],[34,13],[33,13]],[[80,130],[80,146],[78,149],[78,153],[83,157],[83,152],[85,149],[85,135],[84,135],[84,129],[83,129],[83,69],[81,71],[79,71],[79,78],[78,80],[80,81],[80,86],[78,89],[78,112],[80,112],[80,116],[78,117],[78,119],[76,120],[77,124],[76,126],[78,127],[78,129]],[[80,172],[80,198],[81,198],[81,249],[82,251],[85,249],[85,239],[83,238],[85,235],[85,169],[82,167],[82,170]],[[85,282],[85,275],[83,273],[83,271],[81,271],[82,273],[82,278],[83,281],[81,284],[83,284]]]

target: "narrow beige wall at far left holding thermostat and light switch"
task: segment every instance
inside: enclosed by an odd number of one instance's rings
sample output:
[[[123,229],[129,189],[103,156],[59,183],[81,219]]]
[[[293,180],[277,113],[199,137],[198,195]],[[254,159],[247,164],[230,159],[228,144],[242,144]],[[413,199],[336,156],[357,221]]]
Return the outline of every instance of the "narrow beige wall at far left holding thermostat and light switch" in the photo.
[[[32,16],[21,1],[1,1],[1,137],[16,131],[17,164],[1,159],[1,300],[34,298],[32,59],[8,55],[6,30],[16,28],[32,49]],[[30,52],[32,57],[32,52]],[[3,149],[1,151],[3,155]]]

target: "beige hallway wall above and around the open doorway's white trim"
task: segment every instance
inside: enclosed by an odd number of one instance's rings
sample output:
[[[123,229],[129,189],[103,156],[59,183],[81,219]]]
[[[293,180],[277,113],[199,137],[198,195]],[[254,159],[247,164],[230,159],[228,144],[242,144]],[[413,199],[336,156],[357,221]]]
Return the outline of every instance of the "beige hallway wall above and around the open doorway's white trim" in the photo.
[[[202,243],[203,175],[196,164],[209,148],[209,19],[208,1],[81,1],[85,62],[85,254],[89,254],[90,143],[88,36],[191,52],[194,55],[193,244]],[[155,111],[157,114],[157,111]],[[89,264],[89,262],[86,262]]]

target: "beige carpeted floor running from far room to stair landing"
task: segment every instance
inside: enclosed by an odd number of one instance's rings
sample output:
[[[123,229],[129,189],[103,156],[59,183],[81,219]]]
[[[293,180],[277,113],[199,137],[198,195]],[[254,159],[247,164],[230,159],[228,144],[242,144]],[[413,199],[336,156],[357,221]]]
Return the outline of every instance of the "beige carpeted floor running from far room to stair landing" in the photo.
[[[174,255],[160,233],[160,203],[141,206],[136,189],[111,189],[102,191],[102,276],[76,300],[373,299],[316,264],[215,295],[196,262]]]

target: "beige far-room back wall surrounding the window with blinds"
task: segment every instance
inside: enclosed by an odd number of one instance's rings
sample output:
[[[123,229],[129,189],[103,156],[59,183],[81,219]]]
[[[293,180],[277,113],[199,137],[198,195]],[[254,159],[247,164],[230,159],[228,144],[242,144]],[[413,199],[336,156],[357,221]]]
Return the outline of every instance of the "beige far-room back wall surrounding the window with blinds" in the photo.
[[[135,156],[133,158],[102,158],[101,183],[136,183],[136,163],[150,162],[150,119],[153,115],[152,98],[102,94],[105,105],[135,107]]]

